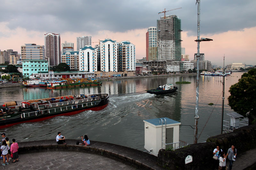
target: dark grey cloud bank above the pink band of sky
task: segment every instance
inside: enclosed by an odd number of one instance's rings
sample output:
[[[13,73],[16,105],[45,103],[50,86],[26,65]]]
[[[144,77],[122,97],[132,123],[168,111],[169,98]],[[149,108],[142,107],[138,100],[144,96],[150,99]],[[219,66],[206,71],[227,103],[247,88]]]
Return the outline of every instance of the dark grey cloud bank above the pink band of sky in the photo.
[[[197,6],[193,0],[23,0],[1,1],[0,22],[10,29],[22,27],[45,33],[90,32],[100,30],[125,32],[156,26],[164,14],[181,19],[182,30],[196,35]],[[201,0],[201,33],[214,34],[256,26],[255,0]]]

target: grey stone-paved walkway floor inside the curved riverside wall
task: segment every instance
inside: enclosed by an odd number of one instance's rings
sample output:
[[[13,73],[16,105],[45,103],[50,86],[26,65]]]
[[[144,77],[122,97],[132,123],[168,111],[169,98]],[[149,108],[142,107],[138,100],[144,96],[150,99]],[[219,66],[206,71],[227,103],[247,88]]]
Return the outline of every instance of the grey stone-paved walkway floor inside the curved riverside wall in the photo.
[[[1,164],[3,159],[0,160]],[[34,169],[64,169],[64,170],[133,170],[136,169],[122,162],[104,156],[85,152],[37,152],[21,154],[19,162],[3,166],[3,169],[34,170]]]

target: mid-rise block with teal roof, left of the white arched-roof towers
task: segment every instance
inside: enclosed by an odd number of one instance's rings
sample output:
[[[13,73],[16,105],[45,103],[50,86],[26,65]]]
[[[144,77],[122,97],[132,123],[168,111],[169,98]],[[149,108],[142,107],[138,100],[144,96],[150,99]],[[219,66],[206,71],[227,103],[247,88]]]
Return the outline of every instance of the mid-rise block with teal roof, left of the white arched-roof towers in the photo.
[[[79,51],[65,51],[61,55],[61,63],[66,63],[70,70],[79,69]]]

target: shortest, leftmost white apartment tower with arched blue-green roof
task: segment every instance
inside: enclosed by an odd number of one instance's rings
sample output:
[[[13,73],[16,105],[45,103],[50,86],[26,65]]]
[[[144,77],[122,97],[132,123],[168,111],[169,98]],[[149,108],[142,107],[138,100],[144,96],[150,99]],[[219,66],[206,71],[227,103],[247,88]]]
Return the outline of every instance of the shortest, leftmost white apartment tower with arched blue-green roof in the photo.
[[[79,71],[97,71],[97,50],[92,46],[85,46],[79,51]]]

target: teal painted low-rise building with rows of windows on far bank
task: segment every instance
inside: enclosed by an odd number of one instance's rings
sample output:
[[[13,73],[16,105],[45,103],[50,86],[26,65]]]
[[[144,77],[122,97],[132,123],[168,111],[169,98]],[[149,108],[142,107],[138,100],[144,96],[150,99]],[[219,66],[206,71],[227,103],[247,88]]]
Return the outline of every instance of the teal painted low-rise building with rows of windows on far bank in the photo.
[[[22,60],[22,73],[23,76],[27,76],[29,78],[35,78],[36,75],[42,72],[49,71],[48,70],[48,61],[46,60],[38,60],[38,59],[24,59]]]

